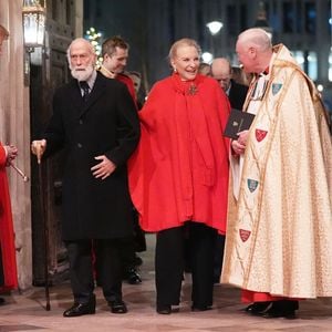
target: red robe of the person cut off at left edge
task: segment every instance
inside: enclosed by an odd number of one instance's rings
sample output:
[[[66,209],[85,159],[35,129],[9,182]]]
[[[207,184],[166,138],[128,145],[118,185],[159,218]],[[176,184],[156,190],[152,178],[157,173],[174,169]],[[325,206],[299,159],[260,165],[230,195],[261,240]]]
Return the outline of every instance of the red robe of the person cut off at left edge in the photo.
[[[0,291],[11,290],[18,287],[14,231],[11,216],[9,187],[6,174],[6,151],[0,144],[0,263],[2,263],[4,277],[4,284],[0,284]]]

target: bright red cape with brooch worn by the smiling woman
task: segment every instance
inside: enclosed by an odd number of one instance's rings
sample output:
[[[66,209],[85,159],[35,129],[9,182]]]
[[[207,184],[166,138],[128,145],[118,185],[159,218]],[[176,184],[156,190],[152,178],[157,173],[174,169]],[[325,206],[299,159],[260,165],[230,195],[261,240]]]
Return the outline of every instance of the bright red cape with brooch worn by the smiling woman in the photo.
[[[187,220],[226,230],[229,103],[203,75],[159,81],[139,112],[142,136],[129,160],[129,189],[146,231]]]

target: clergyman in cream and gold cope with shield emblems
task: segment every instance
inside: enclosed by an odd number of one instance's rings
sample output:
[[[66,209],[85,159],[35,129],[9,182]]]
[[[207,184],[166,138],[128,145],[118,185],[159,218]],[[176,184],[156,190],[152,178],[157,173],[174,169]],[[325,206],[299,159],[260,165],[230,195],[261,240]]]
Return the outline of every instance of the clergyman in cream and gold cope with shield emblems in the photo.
[[[299,299],[332,295],[331,136],[319,92],[284,45],[249,29],[236,51],[257,75],[243,107],[256,117],[231,142],[221,281],[242,288],[249,313],[292,319]]]

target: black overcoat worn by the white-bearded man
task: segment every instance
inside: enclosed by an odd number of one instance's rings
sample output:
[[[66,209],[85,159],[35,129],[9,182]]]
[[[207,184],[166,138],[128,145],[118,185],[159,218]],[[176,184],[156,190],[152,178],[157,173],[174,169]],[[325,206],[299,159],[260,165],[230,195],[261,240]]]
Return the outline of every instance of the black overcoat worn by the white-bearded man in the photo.
[[[63,176],[63,240],[112,239],[133,232],[126,160],[139,139],[137,111],[127,87],[97,73],[86,102],[76,80],[60,87],[44,134],[49,156],[66,149]],[[117,167],[106,179],[91,167],[106,155]]]

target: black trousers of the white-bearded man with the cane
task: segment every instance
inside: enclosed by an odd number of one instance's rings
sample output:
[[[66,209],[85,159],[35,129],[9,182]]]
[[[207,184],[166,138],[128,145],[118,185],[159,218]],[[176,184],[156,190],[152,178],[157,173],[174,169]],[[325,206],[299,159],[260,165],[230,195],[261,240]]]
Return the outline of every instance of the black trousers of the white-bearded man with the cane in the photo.
[[[65,241],[74,301],[86,303],[93,297],[94,271],[106,301],[122,300],[121,239]],[[95,255],[95,269],[93,264]]]

